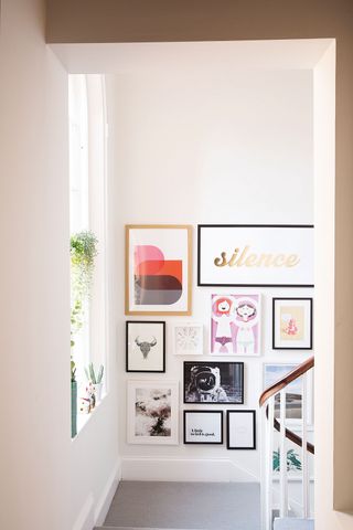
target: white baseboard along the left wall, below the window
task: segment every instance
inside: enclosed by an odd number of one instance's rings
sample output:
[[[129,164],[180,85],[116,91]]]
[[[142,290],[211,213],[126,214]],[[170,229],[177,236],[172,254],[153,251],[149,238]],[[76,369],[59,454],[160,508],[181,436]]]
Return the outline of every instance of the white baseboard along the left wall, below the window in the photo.
[[[97,501],[94,495],[89,494],[84,502],[72,530],[93,530],[101,526],[108,513],[114,494],[121,480],[121,463],[118,460],[110,473],[105,488]]]

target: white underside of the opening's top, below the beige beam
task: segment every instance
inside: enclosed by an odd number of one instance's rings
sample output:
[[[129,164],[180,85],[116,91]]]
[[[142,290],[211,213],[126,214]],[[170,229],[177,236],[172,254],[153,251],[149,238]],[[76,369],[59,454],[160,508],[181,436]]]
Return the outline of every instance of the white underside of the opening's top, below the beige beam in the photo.
[[[333,39],[52,44],[68,73],[310,70]]]

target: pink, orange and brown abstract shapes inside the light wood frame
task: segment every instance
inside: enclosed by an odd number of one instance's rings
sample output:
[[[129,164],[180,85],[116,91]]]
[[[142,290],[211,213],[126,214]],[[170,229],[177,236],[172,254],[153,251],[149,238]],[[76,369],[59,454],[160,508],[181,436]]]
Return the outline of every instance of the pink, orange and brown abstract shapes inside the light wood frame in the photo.
[[[182,295],[182,285],[181,259],[164,259],[162,251],[154,245],[135,246],[135,304],[175,304]]]

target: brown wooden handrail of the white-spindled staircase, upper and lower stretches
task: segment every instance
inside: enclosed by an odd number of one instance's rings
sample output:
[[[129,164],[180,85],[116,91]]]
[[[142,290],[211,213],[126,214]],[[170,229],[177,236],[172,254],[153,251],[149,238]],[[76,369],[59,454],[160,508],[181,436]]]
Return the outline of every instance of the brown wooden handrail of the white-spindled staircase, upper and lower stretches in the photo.
[[[260,406],[265,405],[265,403],[269,400],[269,398],[278,394],[278,392],[280,392],[282,389],[288,386],[289,383],[291,383],[296,379],[303,375],[313,367],[314,367],[314,358],[310,357],[304,362],[299,364],[299,367],[295,368],[291,372],[289,372],[287,375],[281,378],[276,383],[271,384],[271,386],[268,386],[268,389],[264,390],[259,399],[259,405]],[[266,407],[266,415],[268,417],[268,405]],[[278,422],[278,420],[276,420],[276,417],[274,418],[274,427],[276,428],[276,431],[280,432],[280,423]],[[285,435],[286,435],[286,438],[290,439],[295,444],[302,447],[302,438],[298,436],[298,434],[293,433],[289,428],[286,428]],[[309,442],[307,443],[307,451],[309,451],[309,453],[311,453],[312,455],[314,455],[315,453],[314,446]]]

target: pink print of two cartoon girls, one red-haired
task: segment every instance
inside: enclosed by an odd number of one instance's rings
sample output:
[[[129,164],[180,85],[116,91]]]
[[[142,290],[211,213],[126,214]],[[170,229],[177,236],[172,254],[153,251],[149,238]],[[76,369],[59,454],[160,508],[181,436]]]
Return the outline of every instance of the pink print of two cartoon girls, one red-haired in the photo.
[[[260,354],[260,295],[212,295],[211,353]]]

